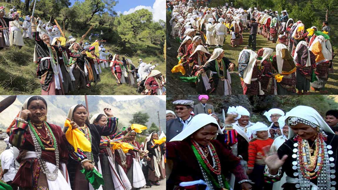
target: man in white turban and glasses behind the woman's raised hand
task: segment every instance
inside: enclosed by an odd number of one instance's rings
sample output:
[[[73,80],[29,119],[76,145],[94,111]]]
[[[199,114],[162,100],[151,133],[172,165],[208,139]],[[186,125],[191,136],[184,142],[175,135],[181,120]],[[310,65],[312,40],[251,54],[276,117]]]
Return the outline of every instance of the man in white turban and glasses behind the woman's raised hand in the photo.
[[[270,127],[269,127],[269,137],[275,139],[278,136],[282,135],[279,123],[278,123],[278,119],[281,116],[284,116],[284,111],[281,109],[277,109],[277,108],[273,108],[270,109],[269,111],[266,111],[263,114],[271,123]]]

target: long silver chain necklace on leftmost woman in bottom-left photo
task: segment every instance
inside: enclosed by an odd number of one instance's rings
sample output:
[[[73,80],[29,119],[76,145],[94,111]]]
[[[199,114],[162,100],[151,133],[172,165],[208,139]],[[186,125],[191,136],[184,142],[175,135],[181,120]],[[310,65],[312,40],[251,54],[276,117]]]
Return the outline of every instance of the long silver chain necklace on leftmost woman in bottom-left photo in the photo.
[[[45,126],[48,128],[48,132],[49,135],[52,137],[53,141],[54,141],[54,148],[46,148],[42,142],[40,137],[38,136],[36,130],[32,127],[32,124],[30,123],[30,120],[28,120],[28,126],[29,126],[29,132],[31,135],[32,139],[33,139],[33,144],[34,144],[34,150],[37,154],[37,158],[38,158],[38,162],[41,166],[41,170],[43,173],[46,174],[46,177],[48,180],[54,181],[57,178],[57,173],[59,171],[59,150],[57,148],[57,142],[56,139],[54,137],[54,134],[52,133],[52,130],[50,129],[50,127],[48,126],[47,122],[44,121]],[[46,161],[44,159],[41,159],[41,155],[42,155],[42,150],[44,151],[55,151],[55,169],[53,170],[53,172],[51,172],[49,170],[49,168],[46,165]]]

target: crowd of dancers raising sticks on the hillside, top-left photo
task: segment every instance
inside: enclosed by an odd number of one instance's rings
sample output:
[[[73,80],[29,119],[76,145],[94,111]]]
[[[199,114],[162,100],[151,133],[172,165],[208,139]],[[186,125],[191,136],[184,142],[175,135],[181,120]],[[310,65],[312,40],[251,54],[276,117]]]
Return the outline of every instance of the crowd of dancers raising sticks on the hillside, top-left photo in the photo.
[[[86,35],[76,42],[73,36],[66,39],[61,28],[51,21],[45,23],[31,16],[21,21],[22,17],[16,8],[6,14],[5,7],[0,7],[0,49],[22,48],[23,38],[35,40],[33,62],[38,66],[42,95],[64,95],[90,88],[100,82],[103,69],[111,69],[118,85],[129,84],[137,88],[137,93],[165,94],[165,78],[154,70],[158,64],[147,64],[139,59],[139,66],[135,67],[131,59],[106,50],[104,40],[93,40],[93,36],[99,37],[97,33],[91,33],[89,42],[83,44]],[[102,35],[101,31],[100,38]]]

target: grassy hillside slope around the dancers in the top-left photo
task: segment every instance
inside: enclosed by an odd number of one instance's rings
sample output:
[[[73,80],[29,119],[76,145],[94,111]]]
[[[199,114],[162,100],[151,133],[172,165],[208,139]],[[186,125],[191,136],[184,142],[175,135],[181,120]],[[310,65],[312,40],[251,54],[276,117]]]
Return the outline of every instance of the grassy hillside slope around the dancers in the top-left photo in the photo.
[[[98,31],[93,30],[92,32],[97,33]],[[66,31],[66,37],[69,35],[70,33]],[[24,39],[24,43],[25,46],[22,49],[10,47],[0,51],[0,94],[41,94],[40,83],[35,76],[37,65],[33,63],[35,42],[31,39]],[[112,54],[121,52],[120,47],[110,43],[105,44],[105,49],[110,50]],[[162,73],[166,71],[161,47],[148,42],[131,41],[123,52],[127,53],[121,53],[120,57],[131,59],[135,67],[139,66],[138,59],[142,58],[146,63],[150,61],[152,61],[152,64],[159,63],[160,65],[156,66],[156,70]],[[69,94],[138,94],[137,87],[128,84],[117,85],[110,69],[103,69],[100,77],[101,81],[91,88],[76,90]]]

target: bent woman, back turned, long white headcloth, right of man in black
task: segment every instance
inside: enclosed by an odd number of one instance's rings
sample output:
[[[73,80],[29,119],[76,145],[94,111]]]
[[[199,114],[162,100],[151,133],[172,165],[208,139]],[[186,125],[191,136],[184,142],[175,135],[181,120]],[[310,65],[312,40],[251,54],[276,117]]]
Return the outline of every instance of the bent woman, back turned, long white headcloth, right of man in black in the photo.
[[[256,65],[257,53],[244,48],[238,57],[238,74],[244,95],[259,94],[259,70]]]

